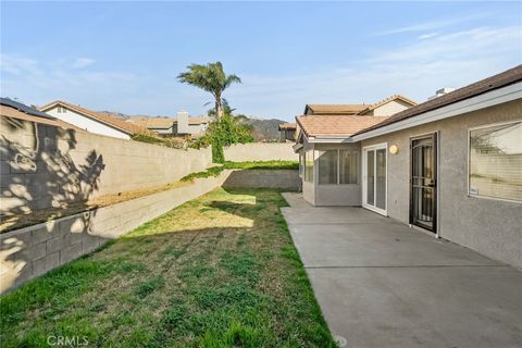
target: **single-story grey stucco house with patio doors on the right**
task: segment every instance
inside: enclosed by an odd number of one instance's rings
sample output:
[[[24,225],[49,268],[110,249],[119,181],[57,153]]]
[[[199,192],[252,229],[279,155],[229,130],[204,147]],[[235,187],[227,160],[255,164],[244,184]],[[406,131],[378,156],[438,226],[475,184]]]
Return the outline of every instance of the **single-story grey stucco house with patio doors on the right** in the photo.
[[[522,268],[522,65],[389,116],[347,113],[358,109],[296,117],[307,201],[360,206]]]

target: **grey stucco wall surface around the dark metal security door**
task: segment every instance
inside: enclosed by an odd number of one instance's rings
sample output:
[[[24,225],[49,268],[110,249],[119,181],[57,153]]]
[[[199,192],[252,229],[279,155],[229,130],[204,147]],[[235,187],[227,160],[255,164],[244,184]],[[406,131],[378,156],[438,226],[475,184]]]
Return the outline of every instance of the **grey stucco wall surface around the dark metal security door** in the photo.
[[[409,138],[438,132],[438,232],[443,238],[522,269],[522,204],[468,196],[468,130],[522,119],[522,101],[362,141],[397,145],[388,154],[388,215],[409,222]]]

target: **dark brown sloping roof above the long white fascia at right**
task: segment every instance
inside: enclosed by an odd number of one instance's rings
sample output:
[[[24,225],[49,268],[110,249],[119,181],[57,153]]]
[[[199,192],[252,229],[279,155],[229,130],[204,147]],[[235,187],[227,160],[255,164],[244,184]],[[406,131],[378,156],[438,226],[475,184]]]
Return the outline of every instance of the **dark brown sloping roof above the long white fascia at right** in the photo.
[[[410,119],[413,116],[417,116],[419,114],[422,114],[427,111],[432,111],[438,108],[443,108],[446,105],[449,105],[451,103],[472,98],[478,95],[482,95],[484,92],[505,87],[507,85],[511,85],[518,82],[522,80],[522,65],[518,65],[513,69],[507,70],[500,74],[487,77],[485,79],[482,79],[480,82],[476,82],[474,84],[471,84],[469,86],[459,88],[453,90],[452,92],[449,92],[447,95],[444,95],[442,97],[428,100],[426,102],[420,103],[415,107],[406,109],[401,112],[398,112],[394,114],[393,116],[386,119],[385,121],[375,124],[373,126],[370,126],[365,129],[361,129],[358,132],[358,134],[362,134],[369,130],[373,130],[380,127],[384,127],[388,124],[399,122],[406,119]]]

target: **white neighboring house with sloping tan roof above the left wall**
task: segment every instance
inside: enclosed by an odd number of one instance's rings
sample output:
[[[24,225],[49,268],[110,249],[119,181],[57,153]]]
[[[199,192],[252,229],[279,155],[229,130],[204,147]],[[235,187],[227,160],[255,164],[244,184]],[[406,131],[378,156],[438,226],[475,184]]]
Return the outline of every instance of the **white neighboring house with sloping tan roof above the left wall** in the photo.
[[[109,137],[130,139],[134,134],[147,132],[141,126],[61,100],[50,102],[38,110],[80,129]]]

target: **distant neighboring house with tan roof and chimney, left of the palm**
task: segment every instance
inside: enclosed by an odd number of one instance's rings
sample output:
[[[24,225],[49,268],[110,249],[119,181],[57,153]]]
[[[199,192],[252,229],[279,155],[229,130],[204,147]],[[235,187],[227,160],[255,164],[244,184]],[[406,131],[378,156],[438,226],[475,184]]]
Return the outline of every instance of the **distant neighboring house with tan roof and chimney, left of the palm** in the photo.
[[[201,136],[207,132],[210,117],[190,117],[179,111],[176,117],[132,117],[126,122],[146,127],[161,136],[190,135]]]

